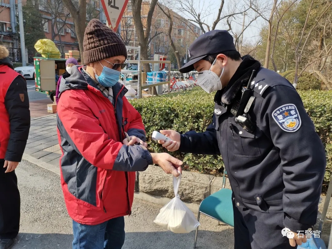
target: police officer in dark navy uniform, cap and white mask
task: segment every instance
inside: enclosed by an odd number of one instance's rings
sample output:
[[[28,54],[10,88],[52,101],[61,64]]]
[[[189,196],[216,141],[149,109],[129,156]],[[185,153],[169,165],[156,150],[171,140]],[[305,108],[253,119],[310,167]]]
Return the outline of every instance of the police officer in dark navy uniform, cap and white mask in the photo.
[[[203,133],[163,130],[174,142],[159,143],[169,151],[221,154],[233,191],[235,249],[306,242],[300,234],[316,222],[326,159],[300,96],[278,73],[241,58],[227,31],[200,36],[189,57],[180,72],[196,69],[197,84],[216,92],[212,123]]]

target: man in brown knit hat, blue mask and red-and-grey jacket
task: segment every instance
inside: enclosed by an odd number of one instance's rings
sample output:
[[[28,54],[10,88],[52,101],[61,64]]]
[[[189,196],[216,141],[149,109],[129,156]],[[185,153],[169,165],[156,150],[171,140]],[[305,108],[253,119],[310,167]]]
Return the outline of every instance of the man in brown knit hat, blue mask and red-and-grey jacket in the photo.
[[[70,77],[60,82],[57,129],[62,190],[73,219],[73,249],[120,249],[124,215],[131,213],[135,171],[155,163],[178,176],[182,162],[146,149],[142,118],[118,82],[126,65],[124,42],[93,19],[85,30],[83,48],[87,66],[72,67]]]

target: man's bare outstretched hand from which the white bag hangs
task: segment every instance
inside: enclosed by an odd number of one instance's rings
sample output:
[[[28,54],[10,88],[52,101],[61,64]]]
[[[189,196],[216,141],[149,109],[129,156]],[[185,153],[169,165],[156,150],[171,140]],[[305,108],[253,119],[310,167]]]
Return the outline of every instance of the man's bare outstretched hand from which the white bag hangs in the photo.
[[[178,177],[182,174],[181,165],[182,161],[172,157],[167,153],[151,153],[152,160],[154,164],[158,164],[166,174],[172,174],[175,177]]]

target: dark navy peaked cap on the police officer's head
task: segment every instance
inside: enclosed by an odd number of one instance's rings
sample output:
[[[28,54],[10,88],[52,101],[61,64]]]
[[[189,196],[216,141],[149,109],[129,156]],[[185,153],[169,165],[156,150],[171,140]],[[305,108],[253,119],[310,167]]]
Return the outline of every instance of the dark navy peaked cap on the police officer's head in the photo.
[[[233,37],[226,30],[212,30],[197,38],[188,49],[189,61],[180,68],[181,73],[194,70],[194,63],[207,55],[236,50]]]

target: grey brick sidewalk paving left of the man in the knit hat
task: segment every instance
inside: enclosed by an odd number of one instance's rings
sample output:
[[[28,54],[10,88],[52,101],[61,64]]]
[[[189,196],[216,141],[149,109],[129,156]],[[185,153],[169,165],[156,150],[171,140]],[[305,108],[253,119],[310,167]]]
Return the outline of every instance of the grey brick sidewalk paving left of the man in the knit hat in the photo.
[[[61,150],[56,132],[56,114],[31,120],[24,153],[53,166],[59,166]]]

